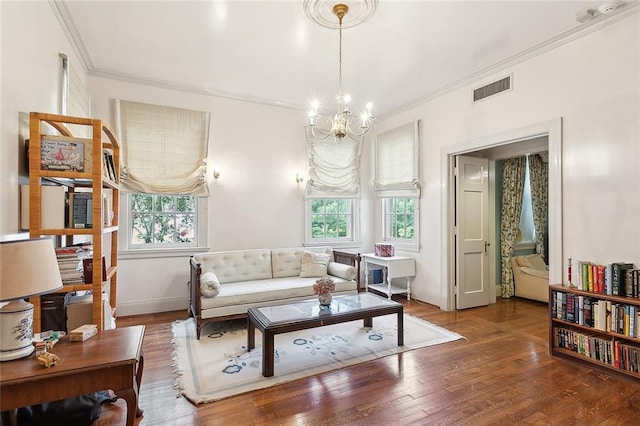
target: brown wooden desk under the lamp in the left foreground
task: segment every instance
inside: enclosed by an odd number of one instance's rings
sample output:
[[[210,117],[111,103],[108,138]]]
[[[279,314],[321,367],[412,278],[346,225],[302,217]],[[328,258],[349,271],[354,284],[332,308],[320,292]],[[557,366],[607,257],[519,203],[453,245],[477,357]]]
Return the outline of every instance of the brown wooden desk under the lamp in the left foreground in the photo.
[[[127,402],[127,425],[138,410],[144,360],[144,326],[98,332],[84,342],[65,336],[51,352],[58,364],[43,368],[34,355],[0,363],[0,411],[57,401],[107,389]]]

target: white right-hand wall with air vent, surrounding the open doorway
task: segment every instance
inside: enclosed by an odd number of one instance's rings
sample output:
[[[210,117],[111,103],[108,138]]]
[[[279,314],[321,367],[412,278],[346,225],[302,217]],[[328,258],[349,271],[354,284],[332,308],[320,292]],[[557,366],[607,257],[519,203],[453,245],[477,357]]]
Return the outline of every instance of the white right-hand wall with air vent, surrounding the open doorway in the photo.
[[[563,118],[563,256],[640,263],[640,14],[381,120],[422,120],[417,299],[443,306],[441,148]],[[471,91],[513,73],[513,91],[471,104]],[[379,231],[378,231],[379,232]],[[411,253],[406,253],[412,255]]]

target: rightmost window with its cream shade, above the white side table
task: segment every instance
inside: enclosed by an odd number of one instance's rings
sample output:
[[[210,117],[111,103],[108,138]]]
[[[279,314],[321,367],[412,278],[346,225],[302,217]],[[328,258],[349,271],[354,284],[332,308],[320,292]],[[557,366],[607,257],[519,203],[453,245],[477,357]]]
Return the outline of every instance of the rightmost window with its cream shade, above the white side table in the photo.
[[[382,207],[382,238],[401,250],[419,249],[419,122],[376,136],[374,186]]]

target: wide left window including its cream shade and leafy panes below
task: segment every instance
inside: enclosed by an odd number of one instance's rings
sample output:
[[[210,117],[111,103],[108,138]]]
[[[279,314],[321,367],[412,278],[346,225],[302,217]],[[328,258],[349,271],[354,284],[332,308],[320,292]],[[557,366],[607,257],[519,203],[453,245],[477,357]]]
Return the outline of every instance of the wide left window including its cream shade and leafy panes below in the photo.
[[[121,198],[121,247],[144,255],[205,246],[210,114],[130,101],[116,101],[116,111],[120,184],[129,192]]]

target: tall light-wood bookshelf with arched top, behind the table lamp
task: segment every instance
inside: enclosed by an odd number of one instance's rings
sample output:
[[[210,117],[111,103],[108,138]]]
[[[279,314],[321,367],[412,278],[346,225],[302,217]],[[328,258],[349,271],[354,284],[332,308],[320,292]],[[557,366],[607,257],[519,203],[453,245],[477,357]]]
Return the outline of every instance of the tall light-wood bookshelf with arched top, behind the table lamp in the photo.
[[[63,246],[73,244],[75,236],[90,237],[94,259],[92,283],[65,285],[63,292],[91,290],[93,323],[102,329],[105,316],[108,315],[109,318],[112,315],[115,316],[116,309],[120,145],[115,133],[108,125],[92,118],[32,112],[29,116],[29,131],[30,237],[52,236]],[[91,136],[81,137],[78,136],[79,134]],[[60,162],[51,160],[49,157],[56,155],[56,146],[75,149],[75,162],[68,156],[66,159],[63,158],[62,151],[56,157]],[[52,147],[54,152],[50,153],[49,157],[46,155],[43,157],[43,149],[46,154]],[[113,159],[111,174],[108,163],[105,164],[104,161],[105,152],[111,154]],[[81,160],[77,158],[78,155],[81,155]],[[42,203],[41,185],[43,183],[64,187],[67,196],[79,191],[90,192],[91,227],[73,227],[66,221],[62,227],[43,228],[42,210],[44,208],[46,211],[47,208]],[[105,198],[105,195],[108,196]],[[106,211],[107,209],[111,211]],[[87,215],[89,215],[88,212]],[[104,274],[101,261],[103,256],[106,269]],[[37,262],[36,259],[34,259],[34,265],[35,262]],[[106,280],[103,281],[104,276]],[[108,293],[112,312],[103,312],[103,292]],[[40,298],[33,297],[30,301],[34,305],[33,326],[34,331],[37,332],[40,331],[41,326]]]

